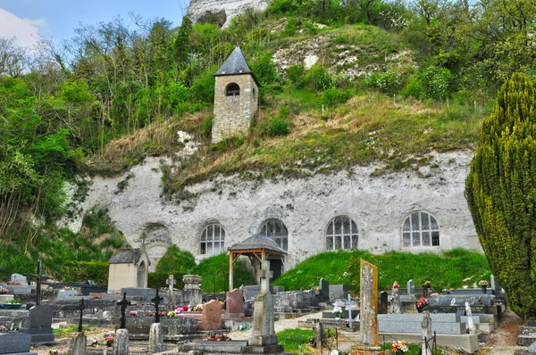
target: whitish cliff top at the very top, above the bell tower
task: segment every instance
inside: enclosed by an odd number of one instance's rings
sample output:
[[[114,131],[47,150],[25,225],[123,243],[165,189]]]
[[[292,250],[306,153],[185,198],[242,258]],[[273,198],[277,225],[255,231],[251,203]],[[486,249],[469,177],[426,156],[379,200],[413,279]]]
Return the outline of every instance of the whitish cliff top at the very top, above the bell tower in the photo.
[[[194,22],[214,22],[226,27],[230,19],[247,8],[262,11],[270,0],[191,0],[188,6],[188,17]]]

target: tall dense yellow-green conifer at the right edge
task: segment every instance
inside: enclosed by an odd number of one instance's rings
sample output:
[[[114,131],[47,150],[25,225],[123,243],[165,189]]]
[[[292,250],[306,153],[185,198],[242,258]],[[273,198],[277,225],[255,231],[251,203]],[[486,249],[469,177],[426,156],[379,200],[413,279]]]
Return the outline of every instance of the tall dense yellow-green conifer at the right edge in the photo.
[[[465,180],[465,197],[491,271],[510,309],[536,316],[536,88],[515,73],[495,110]]]

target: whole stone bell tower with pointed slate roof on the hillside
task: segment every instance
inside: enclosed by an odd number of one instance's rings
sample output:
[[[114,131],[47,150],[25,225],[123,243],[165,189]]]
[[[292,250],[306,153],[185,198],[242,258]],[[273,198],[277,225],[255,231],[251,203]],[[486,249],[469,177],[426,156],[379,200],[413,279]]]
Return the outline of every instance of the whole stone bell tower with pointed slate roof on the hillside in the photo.
[[[259,82],[238,45],[214,78],[212,143],[247,135],[258,110]]]

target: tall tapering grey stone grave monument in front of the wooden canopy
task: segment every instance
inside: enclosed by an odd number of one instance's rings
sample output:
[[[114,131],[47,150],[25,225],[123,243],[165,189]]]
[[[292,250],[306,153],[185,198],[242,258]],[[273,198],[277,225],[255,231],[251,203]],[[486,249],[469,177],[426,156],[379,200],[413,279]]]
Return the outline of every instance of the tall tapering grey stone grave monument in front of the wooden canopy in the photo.
[[[261,292],[255,296],[253,311],[253,331],[247,341],[250,346],[277,345],[277,336],[273,326],[273,298],[270,292],[270,261],[262,264]],[[322,280],[321,280],[322,285]]]

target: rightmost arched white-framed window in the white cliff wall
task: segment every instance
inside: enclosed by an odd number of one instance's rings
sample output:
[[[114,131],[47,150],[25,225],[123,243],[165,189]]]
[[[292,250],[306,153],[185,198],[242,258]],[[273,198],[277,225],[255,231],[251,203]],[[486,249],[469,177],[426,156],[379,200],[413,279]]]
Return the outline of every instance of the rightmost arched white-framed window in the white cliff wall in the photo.
[[[404,246],[439,246],[440,227],[430,213],[414,212],[402,225]]]

